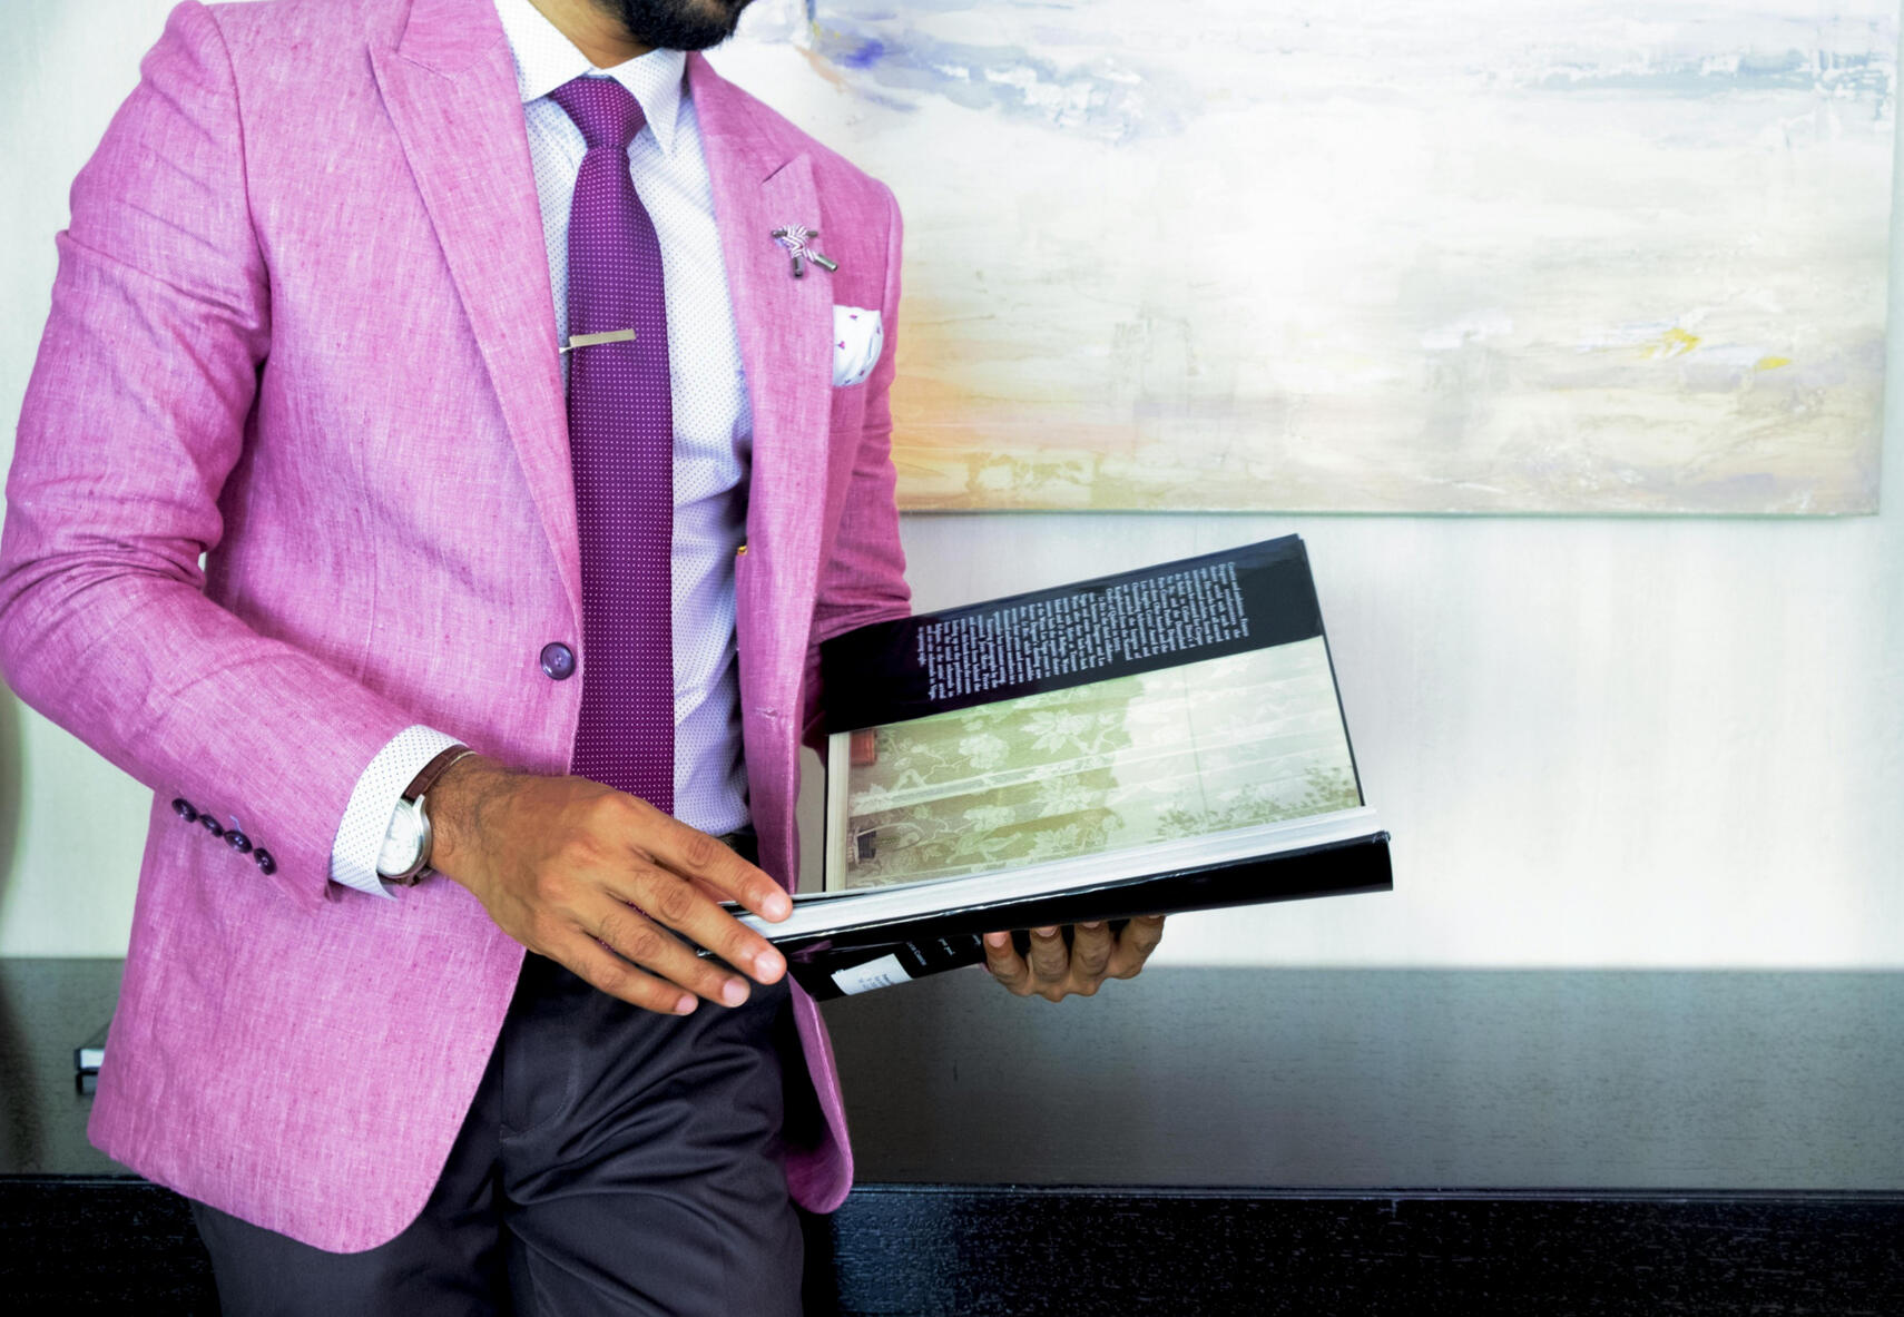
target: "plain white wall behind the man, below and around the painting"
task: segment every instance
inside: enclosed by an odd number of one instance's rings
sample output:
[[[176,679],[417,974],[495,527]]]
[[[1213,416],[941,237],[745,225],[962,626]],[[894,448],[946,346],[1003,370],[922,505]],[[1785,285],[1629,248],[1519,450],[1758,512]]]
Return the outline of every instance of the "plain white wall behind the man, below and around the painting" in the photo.
[[[8,417],[67,183],[164,10],[8,0]],[[1163,961],[1898,969],[1900,434],[1891,390],[1885,512],[1845,521],[1019,514],[904,535],[922,607],[1308,541],[1396,891],[1180,917]],[[147,799],[0,693],[0,953],[124,950]]]

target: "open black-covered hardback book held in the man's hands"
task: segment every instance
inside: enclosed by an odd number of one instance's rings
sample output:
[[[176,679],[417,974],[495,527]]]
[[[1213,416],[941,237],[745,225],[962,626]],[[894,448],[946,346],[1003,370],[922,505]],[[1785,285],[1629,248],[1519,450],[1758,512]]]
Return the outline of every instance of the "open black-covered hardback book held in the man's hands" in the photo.
[[[1293,535],[863,626],[821,678],[823,883],[744,917],[817,997],[996,929],[1390,887]]]

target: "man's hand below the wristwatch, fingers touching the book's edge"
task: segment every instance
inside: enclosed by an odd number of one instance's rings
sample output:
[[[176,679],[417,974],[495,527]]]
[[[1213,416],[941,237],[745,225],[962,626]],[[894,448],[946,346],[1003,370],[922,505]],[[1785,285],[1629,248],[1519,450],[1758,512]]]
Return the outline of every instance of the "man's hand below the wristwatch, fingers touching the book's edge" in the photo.
[[[647,801],[482,756],[453,763],[426,799],[430,868],[466,887],[503,933],[613,997],[661,1014],[693,1011],[691,993],[746,1001],[744,978],[670,929],[764,984],[786,973],[764,936],[716,904],[784,919],[794,906],[781,885]]]

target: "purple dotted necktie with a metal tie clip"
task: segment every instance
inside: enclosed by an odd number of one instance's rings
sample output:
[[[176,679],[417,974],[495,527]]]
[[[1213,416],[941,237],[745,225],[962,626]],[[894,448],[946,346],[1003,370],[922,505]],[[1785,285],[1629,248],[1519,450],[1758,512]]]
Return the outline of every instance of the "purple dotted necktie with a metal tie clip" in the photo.
[[[628,177],[642,107],[613,78],[550,93],[588,152],[569,206],[569,466],[583,558],[571,773],[674,813],[674,400],[661,242]],[[634,329],[634,341],[577,344]]]

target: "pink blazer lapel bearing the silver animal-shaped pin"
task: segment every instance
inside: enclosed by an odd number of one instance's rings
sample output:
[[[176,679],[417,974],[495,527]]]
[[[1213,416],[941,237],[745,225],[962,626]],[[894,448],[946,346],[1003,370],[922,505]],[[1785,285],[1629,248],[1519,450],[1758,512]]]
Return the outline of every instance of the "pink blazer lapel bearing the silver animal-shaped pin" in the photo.
[[[746,697],[750,706],[765,700],[798,721],[790,704],[805,664],[826,501],[832,285],[815,268],[796,280],[773,230],[819,228],[819,192],[805,152],[779,148],[762,131],[748,99],[701,55],[687,57],[687,86],[714,185],[714,217],[754,413],[750,588],[737,619],[741,674],[750,687],[775,681],[773,689]]]

